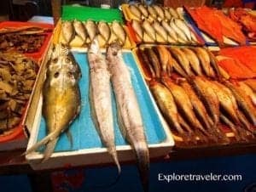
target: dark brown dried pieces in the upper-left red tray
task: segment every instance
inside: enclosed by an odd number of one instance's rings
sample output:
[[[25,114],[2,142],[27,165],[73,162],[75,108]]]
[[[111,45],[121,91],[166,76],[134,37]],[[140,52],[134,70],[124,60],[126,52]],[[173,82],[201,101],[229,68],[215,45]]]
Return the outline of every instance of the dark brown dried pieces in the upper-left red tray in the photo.
[[[44,44],[45,30],[35,26],[1,29],[0,50],[22,54],[38,52]]]

